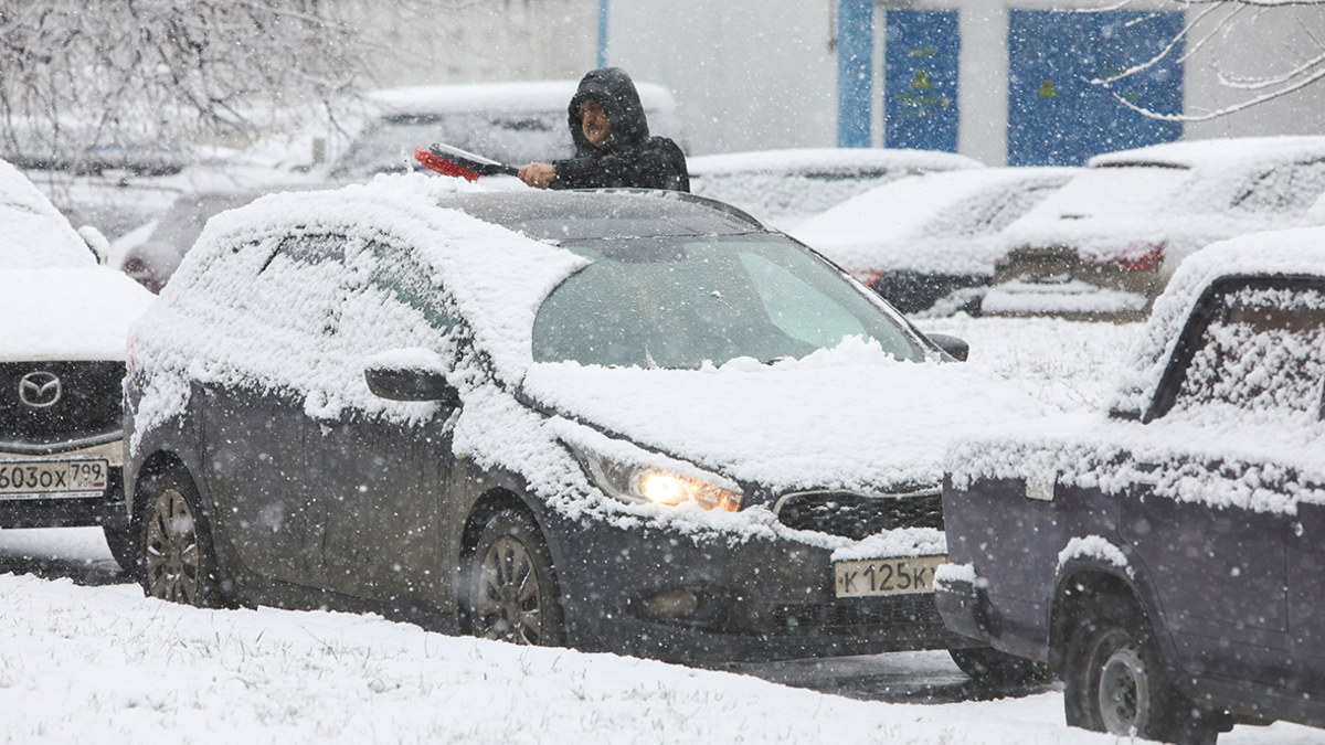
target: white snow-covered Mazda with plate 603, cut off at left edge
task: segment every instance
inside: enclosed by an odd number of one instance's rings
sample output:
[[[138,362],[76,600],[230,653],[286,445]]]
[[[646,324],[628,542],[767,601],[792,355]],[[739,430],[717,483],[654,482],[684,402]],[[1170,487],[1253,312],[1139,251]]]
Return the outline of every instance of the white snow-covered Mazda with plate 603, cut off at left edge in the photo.
[[[129,326],[152,296],[3,160],[0,277],[0,528],[99,525],[132,569],[121,386]]]

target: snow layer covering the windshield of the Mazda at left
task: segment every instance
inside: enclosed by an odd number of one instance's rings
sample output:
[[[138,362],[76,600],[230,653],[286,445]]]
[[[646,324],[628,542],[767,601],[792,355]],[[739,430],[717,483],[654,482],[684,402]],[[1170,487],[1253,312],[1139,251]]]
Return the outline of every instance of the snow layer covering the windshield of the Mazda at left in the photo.
[[[0,268],[89,266],[87,244],[28,176],[0,160]]]

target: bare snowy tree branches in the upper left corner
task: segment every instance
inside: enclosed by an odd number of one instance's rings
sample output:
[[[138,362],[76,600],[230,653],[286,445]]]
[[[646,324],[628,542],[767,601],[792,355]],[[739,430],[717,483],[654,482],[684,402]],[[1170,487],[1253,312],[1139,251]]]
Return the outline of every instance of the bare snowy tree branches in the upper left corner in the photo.
[[[0,0],[0,144],[28,166],[163,166],[199,133],[334,110],[364,46],[325,0]]]

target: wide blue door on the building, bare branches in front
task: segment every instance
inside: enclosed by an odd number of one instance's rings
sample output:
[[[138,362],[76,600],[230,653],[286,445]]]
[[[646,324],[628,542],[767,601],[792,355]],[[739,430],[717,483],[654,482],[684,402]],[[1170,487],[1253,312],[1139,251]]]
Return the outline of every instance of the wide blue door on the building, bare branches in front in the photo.
[[[1008,20],[1007,162],[1081,166],[1092,155],[1182,138],[1163,122],[1120,103],[1092,80],[1117,77],[1158,54],[1183,15],[1138,11],[1011,11]],[[1113,85],[1133,105],[1182,113],[1182,65],[1163,62]]]

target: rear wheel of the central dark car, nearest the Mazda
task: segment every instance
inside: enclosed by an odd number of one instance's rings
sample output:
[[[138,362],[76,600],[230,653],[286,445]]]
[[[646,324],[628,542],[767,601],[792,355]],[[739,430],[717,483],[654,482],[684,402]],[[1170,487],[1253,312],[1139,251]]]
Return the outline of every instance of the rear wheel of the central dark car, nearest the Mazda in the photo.
[[[192,480],[167,471],[144,484],[143,589],[197,607],[221,606],[216,554]]]

